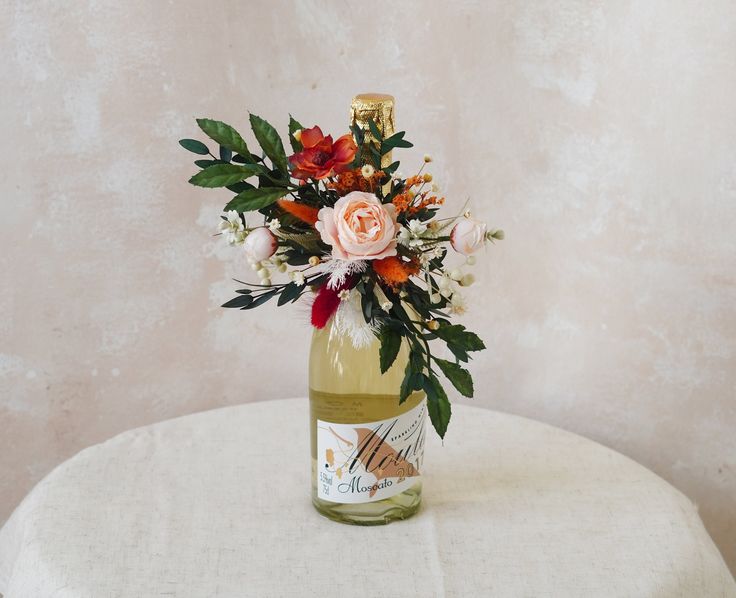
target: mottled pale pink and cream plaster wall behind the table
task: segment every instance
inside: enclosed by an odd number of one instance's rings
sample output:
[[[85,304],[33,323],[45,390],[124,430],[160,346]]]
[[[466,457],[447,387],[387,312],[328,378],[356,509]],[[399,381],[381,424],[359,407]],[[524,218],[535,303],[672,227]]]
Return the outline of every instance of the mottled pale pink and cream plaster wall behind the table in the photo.
[[[248,270],[176,141],[247,110],[340,134],[381,91],[416,143],[403,170],[433,154],[452,204],[507,232],[470,293],[475,403],[650,467],[736,566],[732,0],[2,14],[0,522],[117,432],[305,394],[305,311],[219,308]]]

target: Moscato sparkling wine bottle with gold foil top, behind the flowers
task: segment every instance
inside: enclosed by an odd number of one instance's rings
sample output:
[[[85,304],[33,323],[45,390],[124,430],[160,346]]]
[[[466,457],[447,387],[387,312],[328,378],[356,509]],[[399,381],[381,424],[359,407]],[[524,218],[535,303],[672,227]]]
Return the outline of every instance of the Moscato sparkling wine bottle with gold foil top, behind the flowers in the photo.
[[[350,113],[366,144],[375,143],[369,120],[384,138],[394,132],[391,96],[356,96]],[[390,163],[387,154],[381,166]],[[399,402],[408,350],[402,346],[393,366],[381,374],[379,347],[375,338],[355,347],[333,323],[312,337],[312,503],[335,521],[389,523],[411,516],[421,503],[425,396],[414,392]]]

